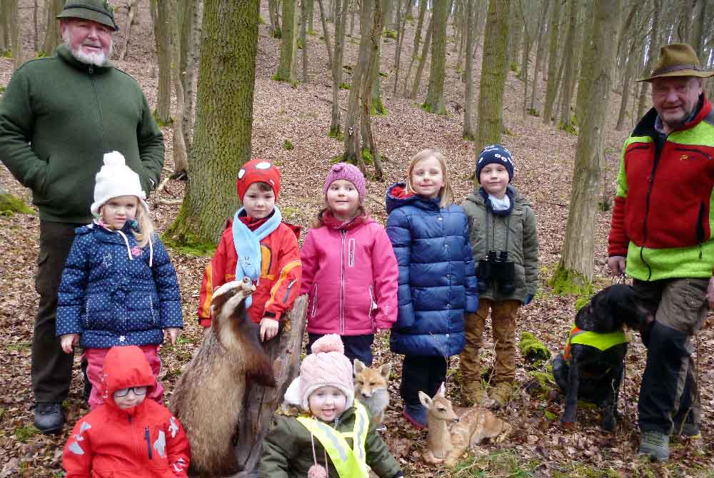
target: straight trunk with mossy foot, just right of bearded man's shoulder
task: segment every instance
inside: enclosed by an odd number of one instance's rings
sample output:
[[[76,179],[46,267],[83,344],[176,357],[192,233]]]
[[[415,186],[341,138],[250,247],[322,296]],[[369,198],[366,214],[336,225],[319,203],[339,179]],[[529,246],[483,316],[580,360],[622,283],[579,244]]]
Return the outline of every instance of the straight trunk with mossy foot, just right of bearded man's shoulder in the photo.
[[[154,39],[159,56],[159,83],[156,93],[156,121],[159,126],[171,123],[171,9],[168,0],[156,1]]]

